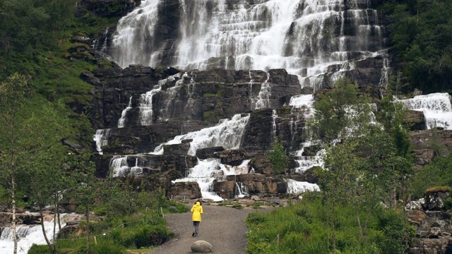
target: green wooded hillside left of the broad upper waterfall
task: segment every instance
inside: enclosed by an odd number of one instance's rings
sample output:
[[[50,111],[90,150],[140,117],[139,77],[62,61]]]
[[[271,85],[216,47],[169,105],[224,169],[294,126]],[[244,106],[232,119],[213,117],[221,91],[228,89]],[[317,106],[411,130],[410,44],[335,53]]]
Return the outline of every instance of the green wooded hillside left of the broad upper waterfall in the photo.
[[[125,2],[105,5],[110,15],[99,17],[77,0],[0,0],[0,83],[13,73],[24,75],[37,92],[28,109],[64,103],[66,111],[58,117],[68,121],[65,138],[73,142],[90,145],[93,135],[87,117],[92,86],[81,73],[112,66],[93,59],[89,38],[114,26]]]

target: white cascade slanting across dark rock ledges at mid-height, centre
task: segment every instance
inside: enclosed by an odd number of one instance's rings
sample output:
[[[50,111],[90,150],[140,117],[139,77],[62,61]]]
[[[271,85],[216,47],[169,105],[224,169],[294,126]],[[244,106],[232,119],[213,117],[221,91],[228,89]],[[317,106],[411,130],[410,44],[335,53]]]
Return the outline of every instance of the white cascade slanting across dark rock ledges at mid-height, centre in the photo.
[[[193,139],[190,143],[188,155],[196,155],[196,150],[205,147],[222,146],[226,150],[239,148],[245,126],[248,124],[249,114],[236,114],[232,119],[222,119],[217,126],[203,128],[184,135],[177,135],[167,143],[155,147],[154,155],[163,154],[163,145],[180,144],[182,140]]]

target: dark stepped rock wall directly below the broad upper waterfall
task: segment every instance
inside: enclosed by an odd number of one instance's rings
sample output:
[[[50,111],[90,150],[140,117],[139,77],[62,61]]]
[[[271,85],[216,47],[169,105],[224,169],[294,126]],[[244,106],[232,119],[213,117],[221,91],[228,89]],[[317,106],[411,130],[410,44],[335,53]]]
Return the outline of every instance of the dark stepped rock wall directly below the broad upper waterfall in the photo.
[[[251,111],[258,105],[280,107],[288,103],[290,96],[301,93],[297,77],[283,69],[268,73],[216,69],[182,74],[174,68],[130,66],[124,70],[83,73],[82,78],[95,85],[91,115],[100,129],[117,127],[128,107],[124,126],[150,125],[169,119],[201,121],[203,126],[213,126],[220,119]],[[270,94],[262,99],[259,93],[263,84],[268,84]],[[151,92],[157,88],[160,90]],[[146,92],[150,92],[148,100],[152,103],[146,107],[152,108],[152,115],[143,121]]]

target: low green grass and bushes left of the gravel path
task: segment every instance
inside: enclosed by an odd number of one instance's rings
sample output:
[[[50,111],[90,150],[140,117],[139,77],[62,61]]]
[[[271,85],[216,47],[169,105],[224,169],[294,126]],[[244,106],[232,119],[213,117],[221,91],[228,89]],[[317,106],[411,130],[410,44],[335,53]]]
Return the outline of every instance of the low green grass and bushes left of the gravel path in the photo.
[[[93,207],[95,214],[103,215],[103,219],[81,222],[77,231],[61,235],[54,243],[59,253],[87,253],[88,248],[89,253],[95,254],[126,253],[126,249],[152,248],[174,236],[167,229],[162,211],[187,212],[186,205],[167,200],[160,191],[137,193],[119,187],[103,186],[96,193],[100,202]],[[52,251],[47,246],[33,246],[28,253]]]

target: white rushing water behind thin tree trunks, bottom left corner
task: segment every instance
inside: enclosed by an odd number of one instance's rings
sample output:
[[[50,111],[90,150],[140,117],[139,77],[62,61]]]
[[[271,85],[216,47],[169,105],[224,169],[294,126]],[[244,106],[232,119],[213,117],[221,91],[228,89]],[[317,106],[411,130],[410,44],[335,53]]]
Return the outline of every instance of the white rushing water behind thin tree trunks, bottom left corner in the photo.
[[[66,225],[65,214],[60,214],[61,226]],[[44,222],[44,229],[50,241],[54,238],[54,222]],[[55,228],[55,234],[58,234],[59,227]],[[47,244],[42,234],[41,225],[18,225],[16,228],[18,236],[18,254],[27,254],[33,244]],[[4,227],[0,229],[0,253],[13,253],[13,229]]]

